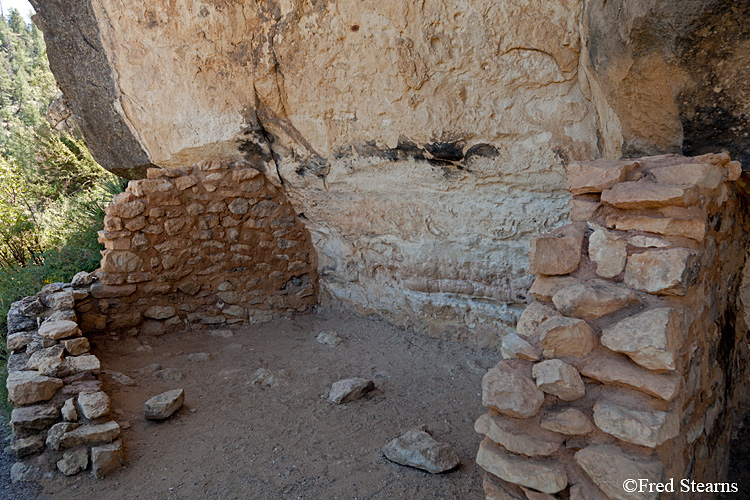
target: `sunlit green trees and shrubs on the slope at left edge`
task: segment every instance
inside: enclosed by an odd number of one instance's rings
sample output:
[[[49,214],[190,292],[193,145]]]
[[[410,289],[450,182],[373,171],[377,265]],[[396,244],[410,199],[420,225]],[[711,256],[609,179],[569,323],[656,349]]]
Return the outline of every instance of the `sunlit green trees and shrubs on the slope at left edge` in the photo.
[[[0,397],[10,304],[99,266],[104,207],[126,186],[78,132],[50,127],[56,93],[41,32],[11,9],[0,17]]]

